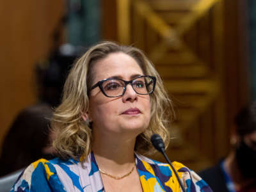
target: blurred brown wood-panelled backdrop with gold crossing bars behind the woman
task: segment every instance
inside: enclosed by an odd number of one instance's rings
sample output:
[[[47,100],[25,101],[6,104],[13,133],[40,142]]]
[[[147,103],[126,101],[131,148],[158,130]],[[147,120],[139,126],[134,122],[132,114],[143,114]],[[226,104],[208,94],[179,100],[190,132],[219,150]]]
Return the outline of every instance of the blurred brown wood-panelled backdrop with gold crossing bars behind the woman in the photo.
[[[42,82],[55,86],[51,67],[67,72],[100,40],[134,45],[154,62],[176,113],[168,156],[193,170],[227,155],[234,116],[256,98],[253,0],[0,0],[0,23],[0,147],[24,108],[58,105],[56,94],[42,96]],[[47,68],[53,76],[40,79]]]

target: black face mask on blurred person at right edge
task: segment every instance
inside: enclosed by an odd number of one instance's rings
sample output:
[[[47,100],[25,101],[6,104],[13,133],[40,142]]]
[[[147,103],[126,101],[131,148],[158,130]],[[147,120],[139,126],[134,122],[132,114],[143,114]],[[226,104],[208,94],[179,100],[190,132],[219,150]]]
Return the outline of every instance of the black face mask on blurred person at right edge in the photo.
[[[241,141],[236,149],[236,159],[239,170],[244,178],[256,178],[256,150],[253,150],[244,141]]]

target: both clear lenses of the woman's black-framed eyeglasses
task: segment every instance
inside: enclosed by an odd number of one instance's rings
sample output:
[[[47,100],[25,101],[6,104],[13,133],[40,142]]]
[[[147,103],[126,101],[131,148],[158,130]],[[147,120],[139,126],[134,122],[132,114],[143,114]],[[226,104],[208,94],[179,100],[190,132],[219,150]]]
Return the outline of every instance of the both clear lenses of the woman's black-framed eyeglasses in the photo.
[[[120,79],[109,79],[102,83],[102,88],[109,97],[120,96],[124,92],[125,82]],[[138,94],[148,94],[154,88],[151,77],[138,77],[132,81],[132,88]]]

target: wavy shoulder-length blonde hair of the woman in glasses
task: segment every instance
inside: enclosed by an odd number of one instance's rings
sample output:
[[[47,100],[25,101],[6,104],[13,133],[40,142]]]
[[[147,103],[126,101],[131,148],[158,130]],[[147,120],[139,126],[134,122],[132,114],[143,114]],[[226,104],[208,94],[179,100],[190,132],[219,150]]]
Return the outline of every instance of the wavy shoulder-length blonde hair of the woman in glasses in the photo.
[[[86,159],[92,149],[92,127],[84,122],[82,113],[88,111],[92,87],[93,64],[111,53],[124,52],[138,62],[144,74],[156,77],[156,88],[150,95],[151,118],[148,128],[136,138],[134,151],[138,154],[152,154],[156,150],[150,143],[150,136],[159,134],[167,147],[170,141],[168,131],[172,116],[172,102],[164,90],[163,81],[154,65],[140,49],[118,45],[115,42],[100,42],[86,51],[79,58],[68,74],[63,89],[63,98],[51,120],[51,127],[56,134],[53,146],[61,159]]]

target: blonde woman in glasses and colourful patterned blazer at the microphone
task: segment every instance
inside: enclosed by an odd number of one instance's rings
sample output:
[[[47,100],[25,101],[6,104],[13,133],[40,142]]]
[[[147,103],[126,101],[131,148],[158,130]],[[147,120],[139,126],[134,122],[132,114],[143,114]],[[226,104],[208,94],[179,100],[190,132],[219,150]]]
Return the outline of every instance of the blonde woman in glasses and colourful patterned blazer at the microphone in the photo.
[[[32,163],[12,191],[180,191],[168,164],[148,159],[150,136],[168,146],[171,102],[146,56],[101,42],[70,71],[52,118],[60,158]],[[173,163],[188,191],[211,191]]]

